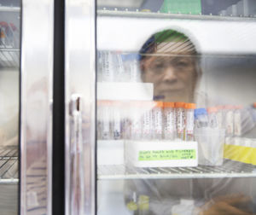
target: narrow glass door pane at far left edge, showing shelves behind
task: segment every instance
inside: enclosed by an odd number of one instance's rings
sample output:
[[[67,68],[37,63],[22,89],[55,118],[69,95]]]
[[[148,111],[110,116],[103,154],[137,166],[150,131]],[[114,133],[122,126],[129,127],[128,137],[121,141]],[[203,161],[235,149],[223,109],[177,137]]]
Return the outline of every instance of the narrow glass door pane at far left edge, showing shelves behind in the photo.
[[[0,6],[0,211],[18,214],[20,1]]]

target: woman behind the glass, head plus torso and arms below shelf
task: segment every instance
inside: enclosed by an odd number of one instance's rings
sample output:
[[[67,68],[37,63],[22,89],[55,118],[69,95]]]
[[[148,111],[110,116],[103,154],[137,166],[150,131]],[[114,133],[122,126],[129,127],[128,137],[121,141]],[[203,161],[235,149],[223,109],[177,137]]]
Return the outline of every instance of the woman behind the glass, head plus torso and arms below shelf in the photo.
[[[154,83],[154,100],[195,102],[200,59],[185,34],[173,30],[155,33],[143,44],[140,55],[142,79]],[[250,178],[137,179],[125,182],[125,200],[131,209],[132,202],[148,196],[143,214],[171,214],[173,205],[188,198],[195,200],[195,214],[253,214],[252,200],[245,197],[253,196],[252,188]]]

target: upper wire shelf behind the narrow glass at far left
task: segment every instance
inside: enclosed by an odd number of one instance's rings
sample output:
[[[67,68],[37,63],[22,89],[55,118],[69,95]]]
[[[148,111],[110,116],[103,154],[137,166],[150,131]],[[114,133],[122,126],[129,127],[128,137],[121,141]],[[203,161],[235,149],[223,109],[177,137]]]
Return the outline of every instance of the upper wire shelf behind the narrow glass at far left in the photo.
[[[0,67],[20,66],[20,49],[0,47]]]

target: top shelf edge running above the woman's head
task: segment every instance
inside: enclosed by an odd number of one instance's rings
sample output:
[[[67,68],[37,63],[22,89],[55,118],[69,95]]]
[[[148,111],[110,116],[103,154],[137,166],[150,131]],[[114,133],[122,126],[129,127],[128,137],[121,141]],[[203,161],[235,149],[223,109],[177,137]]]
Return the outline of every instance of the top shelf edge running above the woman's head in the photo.
[[[129,10],[97,10],[99,16],[122,16],[133,18],[155,18],[155,19],[182,19],[182,20],[226,20],[226,21],[255,21],[256,15],[249,16],[224,16],[224,15],[182,15],[164,14],[160,12],[141,12]]]

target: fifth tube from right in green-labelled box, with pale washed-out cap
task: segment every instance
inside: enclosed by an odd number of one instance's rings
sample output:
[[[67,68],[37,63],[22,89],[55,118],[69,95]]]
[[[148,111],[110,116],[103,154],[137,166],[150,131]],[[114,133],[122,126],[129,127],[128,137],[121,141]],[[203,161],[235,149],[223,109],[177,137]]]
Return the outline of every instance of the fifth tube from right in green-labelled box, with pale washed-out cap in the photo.
[[[152,113],[153,102],[141,102],[141,108],[143,110],[142,118],[142,138],[149,140],[152,138],[152,127],[153,127],[153,113]]]

